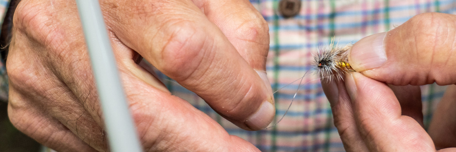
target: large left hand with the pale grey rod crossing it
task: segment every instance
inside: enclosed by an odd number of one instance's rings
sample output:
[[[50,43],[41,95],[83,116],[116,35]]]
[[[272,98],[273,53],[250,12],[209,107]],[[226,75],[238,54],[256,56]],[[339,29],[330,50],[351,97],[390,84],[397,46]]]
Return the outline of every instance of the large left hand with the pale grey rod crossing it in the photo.
[[[275,115],[268,25],[248,0],[100,5],[145,151],[259,151],[137,64],[144,57],[243,129],[266,127]],[[59,152],[108,151],[74,0],[22,0],[13,23],[10,121]]]

